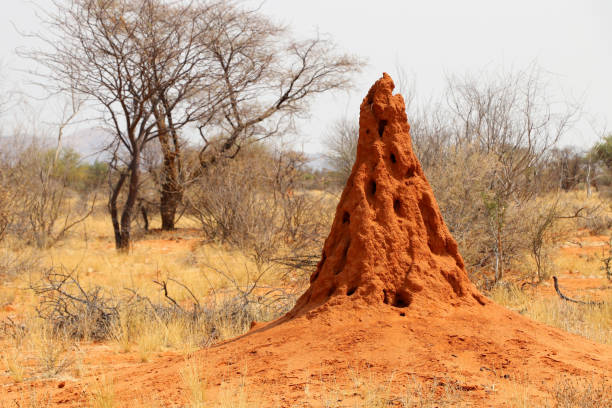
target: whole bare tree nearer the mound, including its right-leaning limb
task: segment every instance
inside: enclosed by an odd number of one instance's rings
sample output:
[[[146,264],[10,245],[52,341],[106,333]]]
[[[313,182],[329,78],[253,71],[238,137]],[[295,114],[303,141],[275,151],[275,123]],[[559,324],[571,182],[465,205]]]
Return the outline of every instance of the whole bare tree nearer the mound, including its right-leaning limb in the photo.
[[[336,54],[330,41],[287,42],[286,30],[235,3],[146,0],[140,15],[143,69],[163,156],[165,230],[175,227],[184,187],[193,181],[183,165],[180,133],[186,125],[199,122],[207,135],[203,151],[210,134],[221,135],[212,157],[232,157],[245,140],[286,130],[313,96],[347,87],[358,69],[358,61]]]

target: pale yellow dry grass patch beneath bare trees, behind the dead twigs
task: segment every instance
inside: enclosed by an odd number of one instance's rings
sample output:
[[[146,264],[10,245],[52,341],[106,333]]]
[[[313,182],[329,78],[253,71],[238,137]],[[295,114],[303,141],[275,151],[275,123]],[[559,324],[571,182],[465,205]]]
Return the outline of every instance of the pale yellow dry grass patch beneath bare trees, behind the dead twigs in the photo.
[[[155,219],[152,223],[155,227]],[[231,288],[231,282],[215,271],[231,271],[236,281],[244,284],[247,273],[257,269],[240,251],[202,245],[201,238],[149,235],[137,241],[129,254],[119,254],[114,250],[105,215],[89,218],[84,224],[81,234],[73,234],[62,245],[46,251],[44,259],[44,266],[62,265],[67,270],[78,271],[84,285],[97,284],[116,291],[138,288],[143,296],[163,300],[153,280],[173,277],[194,293],[206,294],[213,288],[217,291]],[[188,221],[180,224],[181,228],[190,226]],[[83,238],[85,234],[88,240]],[[262,283],[271,281],[264,279]],[[189,293],[180,287],[171,289],[177,302],[191,300]]]

